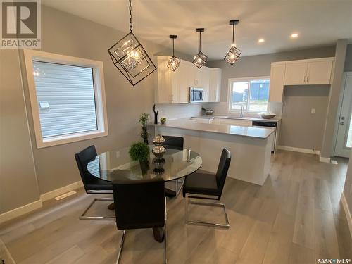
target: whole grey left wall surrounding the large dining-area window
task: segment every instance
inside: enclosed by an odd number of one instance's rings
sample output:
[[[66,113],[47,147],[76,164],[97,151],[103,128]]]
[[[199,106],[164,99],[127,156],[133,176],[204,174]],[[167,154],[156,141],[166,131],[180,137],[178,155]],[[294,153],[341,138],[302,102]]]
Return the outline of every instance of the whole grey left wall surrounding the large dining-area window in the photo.
[[[35,142],[25,74],[21,84],[20,70],[25,73],[23,51],[18,56],[18,51],[1,50],[0,213],[36,201],[39,194],[79,181],[73,155],[84,147],[94,144],[98,152],[103,152],[139,140],[137,120],[141,113],[151,112],[153,77],[132,87],[111,62],[107,49],[125,34],[42,6],[42,51],[103,61],[109,130],[107,137],[44,149],[37,149]],[[140,41],[149,56],[171,54],[163,46]],[[191,59],[185,54],[176,55]],[[189,110],[197,111],[194,106],[185,111]],[[175,115],[175,110],[168,108],[165,115]]]

